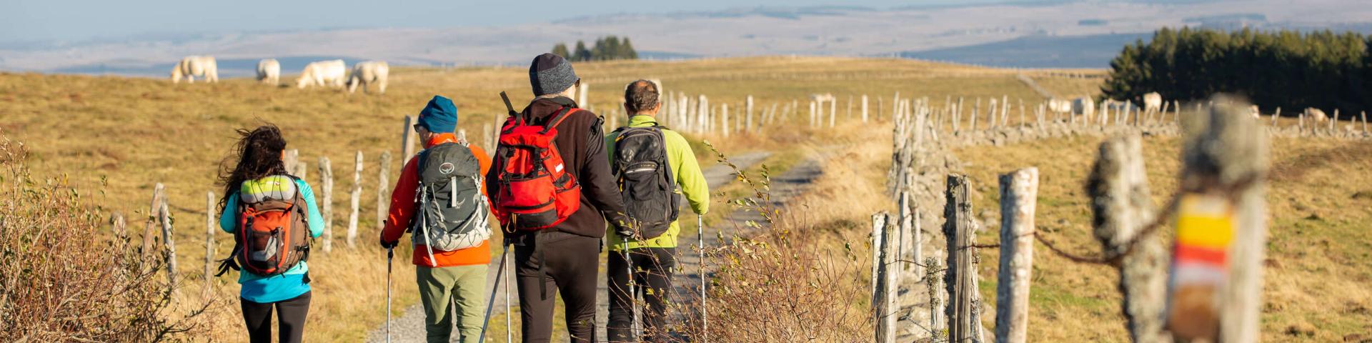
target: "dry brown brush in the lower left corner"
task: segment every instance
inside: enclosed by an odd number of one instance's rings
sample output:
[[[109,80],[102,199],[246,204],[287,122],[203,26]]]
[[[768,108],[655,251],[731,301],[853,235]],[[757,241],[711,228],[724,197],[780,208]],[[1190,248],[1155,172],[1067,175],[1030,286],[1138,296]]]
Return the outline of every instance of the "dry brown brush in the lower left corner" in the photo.
[[[100,233],[100,209],[64,176],[34,178],[26,158],[0,136],[0,338],[163,342],[203,327],[210,303],[176,309],[162,263],[141,259],[126,235]]]

